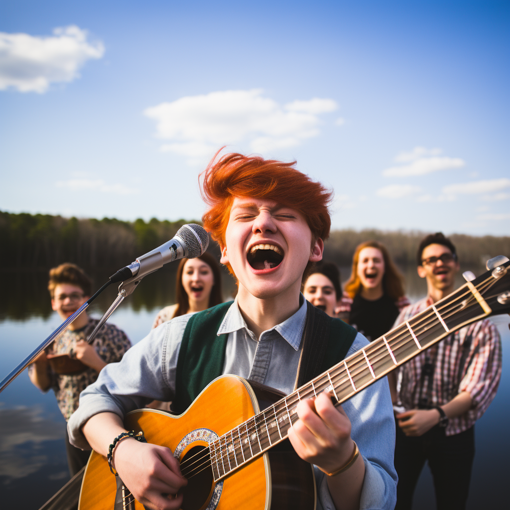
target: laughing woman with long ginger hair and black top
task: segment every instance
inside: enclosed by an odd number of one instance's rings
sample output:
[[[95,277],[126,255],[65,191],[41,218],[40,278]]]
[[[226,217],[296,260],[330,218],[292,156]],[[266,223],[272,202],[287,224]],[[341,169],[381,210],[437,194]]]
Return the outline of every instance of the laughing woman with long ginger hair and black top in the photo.
[[[386,246],[366,241],[356,247],[344,289],[352,299],[349,324],[370,342],[390,330],[399,310],[409,304],[402,282]]]

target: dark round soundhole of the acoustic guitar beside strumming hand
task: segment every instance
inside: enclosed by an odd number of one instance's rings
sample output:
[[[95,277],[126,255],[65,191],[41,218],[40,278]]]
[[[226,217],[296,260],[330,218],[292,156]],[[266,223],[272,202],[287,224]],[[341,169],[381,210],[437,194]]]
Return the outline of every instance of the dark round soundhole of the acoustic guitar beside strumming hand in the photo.
[[[207,450],[206,446],[194,446],[181,460],[182,473],[188,479],[188,485],[183,491],[182,510],[199,510],[211,494],[213,470],[209,453],[203,453],[204,450]]]

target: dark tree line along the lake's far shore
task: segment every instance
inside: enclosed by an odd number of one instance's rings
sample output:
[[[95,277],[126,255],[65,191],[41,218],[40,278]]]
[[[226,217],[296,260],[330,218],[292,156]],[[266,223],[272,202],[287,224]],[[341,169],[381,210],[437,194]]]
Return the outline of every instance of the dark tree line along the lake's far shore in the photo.
[[[74,262],[90,272],[115,269],[168,241],[183,224],[192,222],[199,223],[197,220],[160,221],[156,218],[148,222],[143,219],[79,219],[0,211],[0,267],[48,269],[62,262]],[[425,235],[419,231],[337,230],[331,232],[326,242],[324,258],[348,266],[359,243],[376,240],[387,246],[397,264],[414,265],[416,250]],[[479,266],[496,255],[510,254],[508,236],[453,234],[450,238],[463,265]],[[215,246],[212,250],[219,253]]]

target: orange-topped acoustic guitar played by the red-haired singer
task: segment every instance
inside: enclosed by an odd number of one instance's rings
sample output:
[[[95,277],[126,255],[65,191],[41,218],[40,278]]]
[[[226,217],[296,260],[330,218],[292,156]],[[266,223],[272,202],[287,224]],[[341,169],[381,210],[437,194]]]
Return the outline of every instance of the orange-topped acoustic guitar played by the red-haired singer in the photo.
[[[326,390],[340,405],[453,331],[509,313],[509,265],[467,282],[290,395],[224,375],[182,415],[137,410],[125,416],[124,425],[143,431],[149,443],[167,446],[179,460],[188,479],[183,510],[313,510],[313,467],[287,439],[298,402]],[[93,451],[79,510],[99,509],[143,510],[143,505]]]

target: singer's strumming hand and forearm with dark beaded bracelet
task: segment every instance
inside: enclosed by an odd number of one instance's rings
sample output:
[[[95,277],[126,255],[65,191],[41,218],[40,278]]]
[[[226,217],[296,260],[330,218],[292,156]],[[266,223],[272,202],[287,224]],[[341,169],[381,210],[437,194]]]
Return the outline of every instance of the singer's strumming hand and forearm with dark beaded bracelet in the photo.
[[[114,413],[96,414],[83,426],[92,448],[105,456],[113,438],[121,432],[127,430]],[[115,447],[113,466],[125,486],[147,508],[177,510],[181,507],[183,496],[175,495],[188,482],[170,448],[127,438]]]

